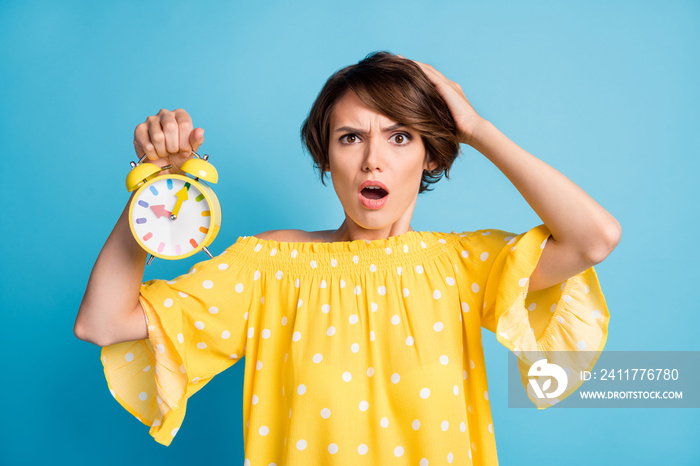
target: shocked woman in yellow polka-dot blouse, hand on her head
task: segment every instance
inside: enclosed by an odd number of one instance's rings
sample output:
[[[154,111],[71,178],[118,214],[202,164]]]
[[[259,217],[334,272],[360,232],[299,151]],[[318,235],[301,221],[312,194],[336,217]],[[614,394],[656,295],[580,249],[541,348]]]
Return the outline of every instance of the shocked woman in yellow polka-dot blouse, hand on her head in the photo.
[[[618,222],[481,118],[459,85],[401,56],[333,75],[302,138],[333,179],[338,229],[239,237],[186,275],[141,285],[146,253],[122,214],[76,336],[104,347],[112,394],[166,445],[187,399],[245,355],[246,464],[496,464],[480,328],[519,355],[602,350],[592,265],[617,245]],[[184,110],[149,117],[134,138],[138,155],[175,169],[202,142]],[[413,231],[419,192],[459,143],[544,225]]]

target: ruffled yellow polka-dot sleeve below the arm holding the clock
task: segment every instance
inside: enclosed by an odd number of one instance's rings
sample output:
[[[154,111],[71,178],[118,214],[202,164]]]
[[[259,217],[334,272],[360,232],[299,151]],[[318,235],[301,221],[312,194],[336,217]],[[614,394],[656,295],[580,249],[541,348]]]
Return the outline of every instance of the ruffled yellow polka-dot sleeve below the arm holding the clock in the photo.
[[[236,260],[236,246],[174,280],[144,283],[148,339],[102,349],[110,392],[164,445],[187,399],[243,357],[249,313],[261,297],[256,271]]]

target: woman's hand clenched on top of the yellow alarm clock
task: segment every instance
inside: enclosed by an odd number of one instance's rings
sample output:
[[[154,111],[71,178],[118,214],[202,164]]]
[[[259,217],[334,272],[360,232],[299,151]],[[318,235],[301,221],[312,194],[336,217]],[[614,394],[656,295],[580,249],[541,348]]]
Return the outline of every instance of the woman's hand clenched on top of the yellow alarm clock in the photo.
[[[159,167],[172,165],[171,173],[178,172],[203,142],[204,130],[193,129],[192,118],[181,108],[161,109],[134,130],[136,155],[141,158],[146,154],[148,161]]]

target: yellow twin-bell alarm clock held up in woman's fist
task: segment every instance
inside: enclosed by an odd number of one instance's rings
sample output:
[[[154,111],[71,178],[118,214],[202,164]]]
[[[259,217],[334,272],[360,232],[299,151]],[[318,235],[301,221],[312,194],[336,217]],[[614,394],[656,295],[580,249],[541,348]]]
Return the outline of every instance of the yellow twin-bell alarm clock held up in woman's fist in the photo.
[[[221,226],[221,206],[214,191],[205,183],[216,183],[219,175],[208,162],[209,156],[195,156],[180,168],[186,175],[165,174],[171,165],[158,167],[135,163],[126,177],[126,189],[136,193],[129,204],[129,227],[138,244],[151,257],[184,259],[207,249]]]

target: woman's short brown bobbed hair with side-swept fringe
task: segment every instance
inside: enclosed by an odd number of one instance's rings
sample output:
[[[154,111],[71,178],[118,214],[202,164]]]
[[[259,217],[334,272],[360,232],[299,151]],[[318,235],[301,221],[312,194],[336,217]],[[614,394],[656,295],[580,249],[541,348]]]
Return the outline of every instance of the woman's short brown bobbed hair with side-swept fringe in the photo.
[[[447,104],[418,65],[388,52],[374,52],[356,65],[335,72],[321,89],[301,127],[306,145],[324,182],[328,165],[330,123],[333,108],[347,91],[352,91],[375,112],[402,123],[421,135],[434,170],[423,170],[418,193],[431,191],[459,154],[456,125]]]

